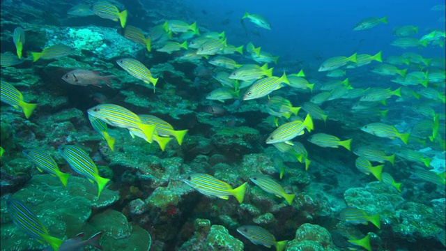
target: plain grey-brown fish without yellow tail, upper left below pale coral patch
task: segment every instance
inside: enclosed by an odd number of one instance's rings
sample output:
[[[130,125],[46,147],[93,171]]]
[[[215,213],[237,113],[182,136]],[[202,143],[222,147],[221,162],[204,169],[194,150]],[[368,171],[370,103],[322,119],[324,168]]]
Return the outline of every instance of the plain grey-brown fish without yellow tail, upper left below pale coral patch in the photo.
[[[109,82],[109,79],[114,79],[114,76],[100,76],[99,72],[95,70],[75,69],[63,75],[62,79],[68,84],[78,86],[88,86],[91,84],[98,87],[102,87],[102,85],[99,83],[99,81],[102,80],[105,82],[105,84],[107,84],[107,86],[111,87],[112,83]]]

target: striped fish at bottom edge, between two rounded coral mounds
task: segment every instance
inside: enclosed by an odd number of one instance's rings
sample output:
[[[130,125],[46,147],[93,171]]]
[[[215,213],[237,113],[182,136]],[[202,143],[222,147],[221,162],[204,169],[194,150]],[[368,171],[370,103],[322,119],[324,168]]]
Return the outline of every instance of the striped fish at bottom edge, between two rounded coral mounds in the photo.
[[[286,247],[286,241],[276,241],[276,238],[266,229],[259,226],[245,225],[237,229],[237,231],[245,236],[249,241],[256,245],[263,245],[267,248],[276,247],[277,251],[282,251]]]

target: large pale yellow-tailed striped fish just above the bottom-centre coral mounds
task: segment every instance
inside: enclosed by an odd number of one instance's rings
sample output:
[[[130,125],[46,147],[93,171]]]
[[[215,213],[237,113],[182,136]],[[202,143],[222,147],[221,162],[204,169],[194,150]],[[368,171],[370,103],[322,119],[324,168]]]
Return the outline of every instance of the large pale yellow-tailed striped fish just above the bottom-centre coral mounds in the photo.
[[[238,188],[232,188],[228,183],[220,181],[209,174],[190,174],[187,178],[183,178],[182,181],[203,195],[216,196],[221,199],[229,199],[229,196],[233,195],[240,204],[242,204],[243,198],[245,197],[247,184],[245,182]]]

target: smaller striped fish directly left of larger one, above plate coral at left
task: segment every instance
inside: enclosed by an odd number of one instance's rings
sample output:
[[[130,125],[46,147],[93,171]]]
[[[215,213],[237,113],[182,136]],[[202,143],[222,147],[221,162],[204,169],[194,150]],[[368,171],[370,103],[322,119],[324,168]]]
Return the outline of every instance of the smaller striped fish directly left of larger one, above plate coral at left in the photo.
[[[70,174],[61,172],[51,155],[39,149],[24,149],[22,153],[40,172],[45,171],[53,176],[59,177],[62,184],[67,186],[68,176]]]

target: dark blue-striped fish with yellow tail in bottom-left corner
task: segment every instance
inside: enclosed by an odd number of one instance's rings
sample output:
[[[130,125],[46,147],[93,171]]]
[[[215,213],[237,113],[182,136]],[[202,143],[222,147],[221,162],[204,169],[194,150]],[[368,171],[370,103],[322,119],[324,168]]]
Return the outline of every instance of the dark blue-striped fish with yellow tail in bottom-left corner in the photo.
[[[36,239],[40,243],[47,243],[54,251],[59,250],[63,241],[59,238],[50,236],[47,228],[40,223],[36,215],[33,215],[28,208],[26,208],[23,201],[10,197],[6,201],[8,212],[13,218],[15,226],[22,229],[31,238]]]

